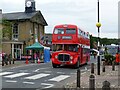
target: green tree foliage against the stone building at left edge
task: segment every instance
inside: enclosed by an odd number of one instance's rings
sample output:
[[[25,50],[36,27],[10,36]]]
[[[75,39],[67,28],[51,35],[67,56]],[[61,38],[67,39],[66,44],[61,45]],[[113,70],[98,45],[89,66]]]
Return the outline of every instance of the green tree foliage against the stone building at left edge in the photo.
[[[12,39],[12,22],[7,21],[6,19],[2,20],[2,36],[5,40]]]

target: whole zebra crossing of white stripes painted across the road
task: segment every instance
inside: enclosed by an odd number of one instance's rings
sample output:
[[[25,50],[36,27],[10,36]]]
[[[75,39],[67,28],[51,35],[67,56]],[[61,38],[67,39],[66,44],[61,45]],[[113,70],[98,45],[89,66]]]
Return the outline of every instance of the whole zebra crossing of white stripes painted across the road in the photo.
[[[26,73],[26,72],[18,72],[18,73],[15,73],[15,72],[0,72],[0,76],[2,76],[3,78],[5,79],[16,79],[16,78],[20,78],[22,77],[22,80],[40,80],[41,78],[46,78],[46,77],[51,77],[52,75],[51,74],[48,74],[48,73],[36,73],[34,75],[31,75],[31,73]],[[70,75],[65,75],[65,74],[57,74],[57,76],[54,76],[54,77],[51,77],[51,78],[48,78],[47,81],[54,81],[54,82],[60,82],[60,81],[63,81],[67,78],[70,78]],[[46,79],[45,79],[46,80]],[[7,82],[16,82],[16,81],[8,81]],[[29,82],[24,82],[24,83],[29,83]],[[33,82],[31,83],[33,84]]]

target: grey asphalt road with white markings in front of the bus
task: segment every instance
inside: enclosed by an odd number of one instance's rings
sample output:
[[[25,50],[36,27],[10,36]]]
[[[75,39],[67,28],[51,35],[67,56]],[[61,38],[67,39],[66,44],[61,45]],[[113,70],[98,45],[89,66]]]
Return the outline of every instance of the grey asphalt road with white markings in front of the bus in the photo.
[[[96,62],[91,57],[88,65],[80,67],[81,73],[90,70],[90,63]],[[77,69],[72,67],[53,68],[51,62],[29,64],[2,70],[2,88],[61,88],[76,80]]]

